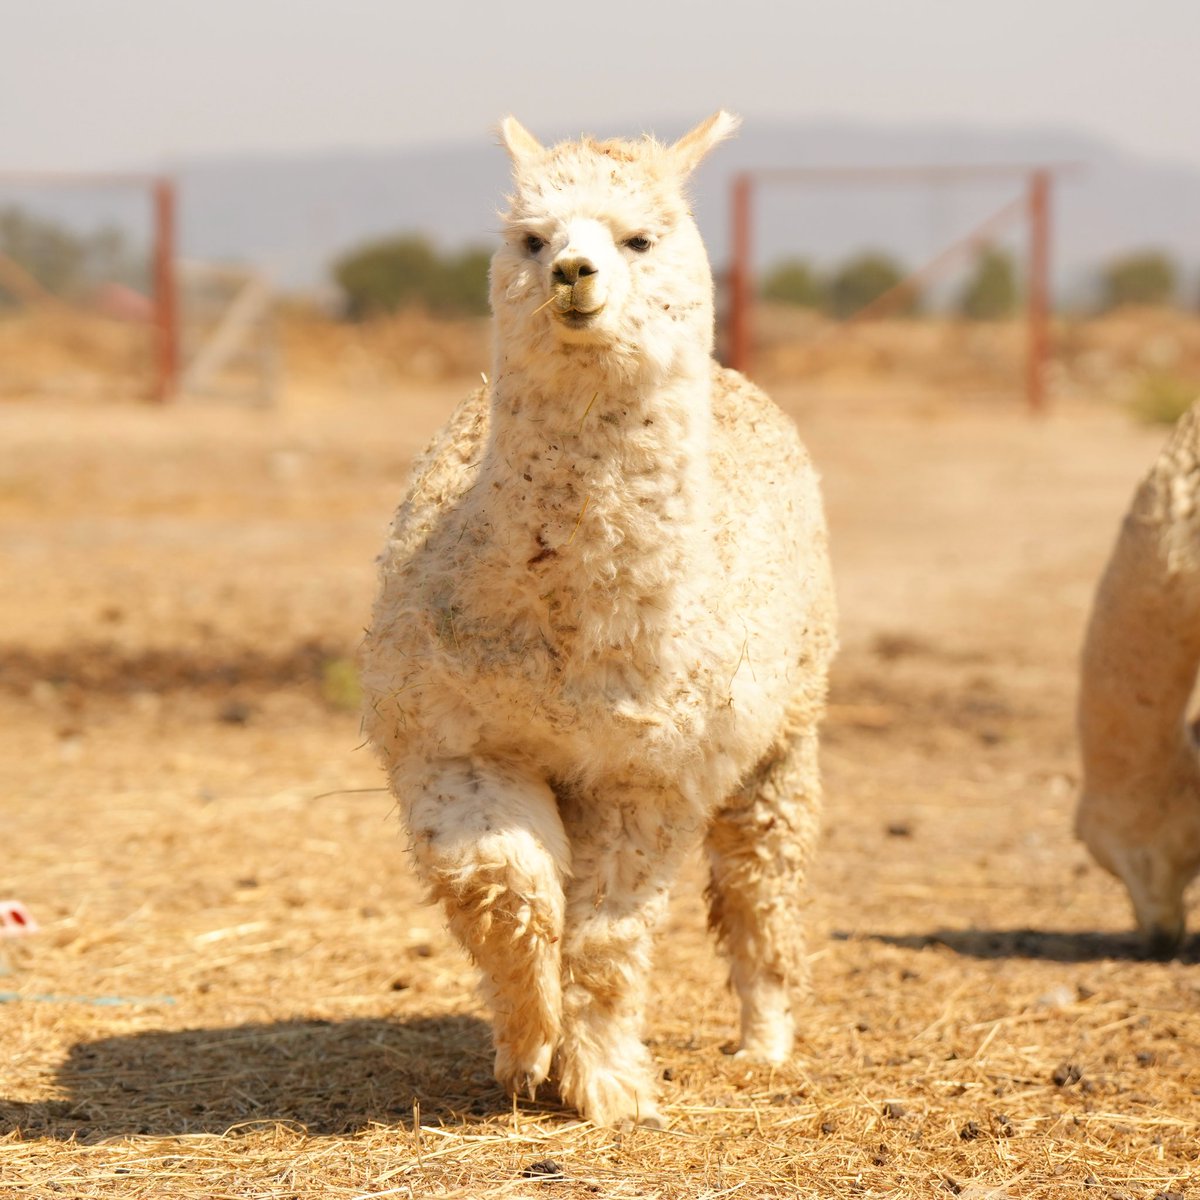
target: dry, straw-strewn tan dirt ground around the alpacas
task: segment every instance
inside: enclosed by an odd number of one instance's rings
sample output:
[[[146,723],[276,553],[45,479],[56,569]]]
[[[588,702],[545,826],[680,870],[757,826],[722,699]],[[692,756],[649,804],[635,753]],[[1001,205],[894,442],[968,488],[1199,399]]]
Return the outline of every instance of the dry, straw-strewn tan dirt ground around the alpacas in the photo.
[[[468,380],[469,382],[469,380]],[[1200,1195],[1200,968],[1070,834],[1075,658],[1162,442],[775,380],[842,606],[794,1064],[727,1051],[697,862],[647,1037],[670,1128],[493,1085],[348,664],[467,382],[266,412],[0,406],[0,1196]]]

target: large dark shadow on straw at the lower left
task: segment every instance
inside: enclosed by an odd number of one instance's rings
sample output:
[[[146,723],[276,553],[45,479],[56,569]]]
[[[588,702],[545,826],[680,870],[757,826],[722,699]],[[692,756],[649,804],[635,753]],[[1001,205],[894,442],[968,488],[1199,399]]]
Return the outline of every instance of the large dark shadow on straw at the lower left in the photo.
[[[463,1121],[511,1109],[475,1016],[294,1020],[83,1042],[59,1069],[65,1099],[0,1097],[0,1138],[102,1141],[294,1124],[340,1135],[368,1124]]]

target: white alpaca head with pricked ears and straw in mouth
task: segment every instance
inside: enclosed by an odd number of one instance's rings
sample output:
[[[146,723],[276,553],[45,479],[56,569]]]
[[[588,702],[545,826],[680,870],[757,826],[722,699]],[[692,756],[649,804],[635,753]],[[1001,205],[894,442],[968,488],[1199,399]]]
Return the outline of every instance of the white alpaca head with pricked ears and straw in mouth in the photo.
[[[713,277],[684,193],[737,127],[716,113],[673,145],[584,138],[542,146],[514,118],[500,136],[515,191],[492,258],[500,355],[557,366],[606,359],[666,373],[713,341]]]

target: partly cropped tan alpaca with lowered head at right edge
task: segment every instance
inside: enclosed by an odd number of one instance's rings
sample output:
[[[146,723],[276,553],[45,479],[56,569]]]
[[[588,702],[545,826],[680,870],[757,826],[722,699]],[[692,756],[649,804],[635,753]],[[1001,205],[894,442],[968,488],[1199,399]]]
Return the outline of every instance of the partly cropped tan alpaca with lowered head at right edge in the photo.
[[[1200,870],[1200,755],[1187,724],[1200,664],[1200,406],[1180,420],[1126,515],[1084,646],[1076,830],[1128,888],[1169,958]]]

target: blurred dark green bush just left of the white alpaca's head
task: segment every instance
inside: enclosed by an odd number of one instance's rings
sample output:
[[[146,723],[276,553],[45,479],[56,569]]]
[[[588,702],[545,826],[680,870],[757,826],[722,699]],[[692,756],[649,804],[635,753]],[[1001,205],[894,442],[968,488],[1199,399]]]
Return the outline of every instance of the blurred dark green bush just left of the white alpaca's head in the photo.
[[[475,316],[487,312],[490,258],[478,248],[444,257],[419,234],[402,234],[352,250],[334,263],[332,274],[352,320],[409,306]]]

